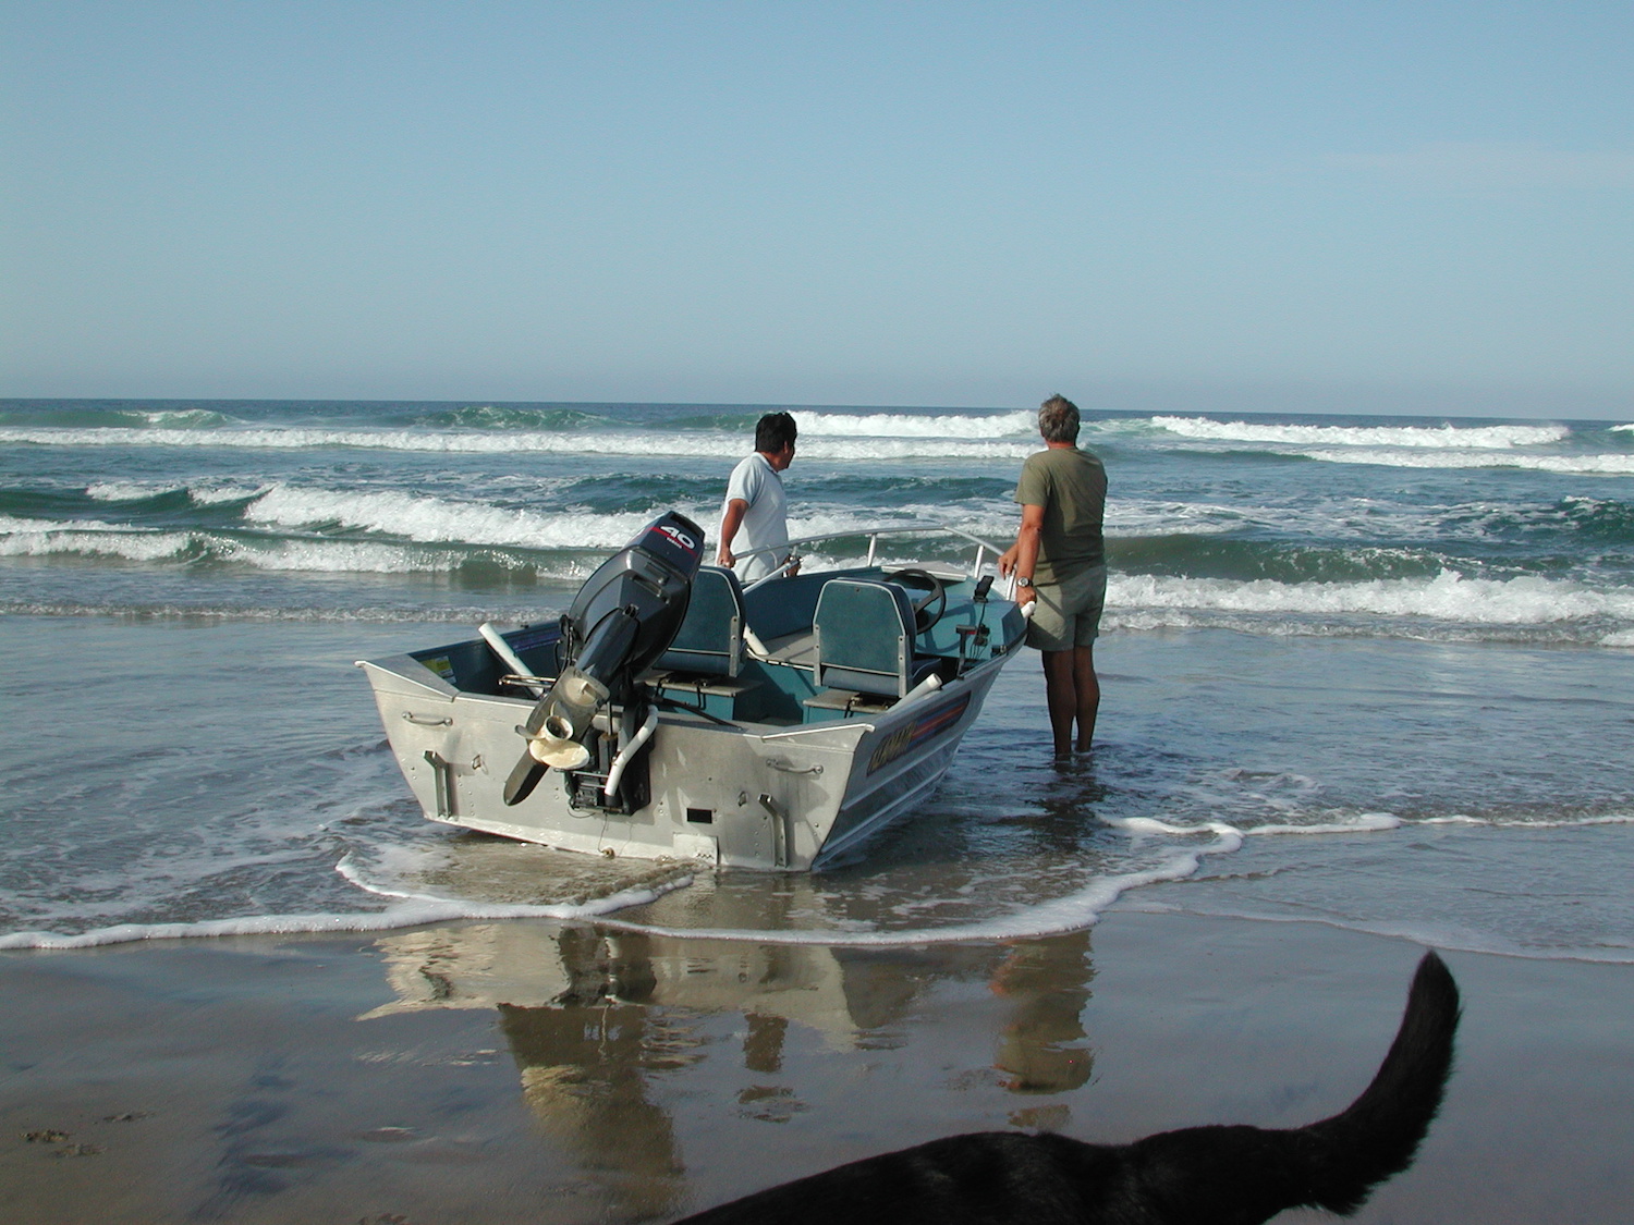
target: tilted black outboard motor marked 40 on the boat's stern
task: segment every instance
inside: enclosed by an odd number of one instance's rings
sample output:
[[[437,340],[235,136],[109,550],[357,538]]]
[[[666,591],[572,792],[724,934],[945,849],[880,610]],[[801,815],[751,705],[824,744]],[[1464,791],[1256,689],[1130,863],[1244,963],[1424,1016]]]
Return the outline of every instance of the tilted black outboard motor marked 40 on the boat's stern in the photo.
[[[562,671],[516,728],[528,751],[505,781],[507,804],[528,799],[549,766],[574,771],[590,763],[583,742],[592,720],[608,702],[627,706],[636,678],[668,650],[703,554],[703,528],[670,511],[578,588],[562,617]]]

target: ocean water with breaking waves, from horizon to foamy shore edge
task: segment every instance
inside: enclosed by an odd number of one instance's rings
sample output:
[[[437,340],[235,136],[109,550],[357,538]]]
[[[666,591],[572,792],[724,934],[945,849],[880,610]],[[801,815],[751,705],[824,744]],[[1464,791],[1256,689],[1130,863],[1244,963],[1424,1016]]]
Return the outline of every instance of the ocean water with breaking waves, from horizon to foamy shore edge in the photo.
[[[1028,652],[940,792],[815,875],[598,890],[425,822],[351,662],[552,617],[662,510],[714,526],[760,412],[0,402],[0,947],[513,915],[926,944],[1121,906],[1634,960],[1621,423],[1088,412],[1093,760],[1051,763]],[[1029,410],[794,413],[794,529],[1013,536]]]

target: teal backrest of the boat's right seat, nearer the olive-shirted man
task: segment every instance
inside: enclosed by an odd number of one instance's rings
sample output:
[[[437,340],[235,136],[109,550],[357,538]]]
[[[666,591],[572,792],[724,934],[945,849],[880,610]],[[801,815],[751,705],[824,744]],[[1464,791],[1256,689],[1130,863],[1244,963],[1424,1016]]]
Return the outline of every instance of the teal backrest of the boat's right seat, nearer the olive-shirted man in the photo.
[[[913,604],[895,583],[830,578],[812,616],[817,686],[902,697],[913,658]]]

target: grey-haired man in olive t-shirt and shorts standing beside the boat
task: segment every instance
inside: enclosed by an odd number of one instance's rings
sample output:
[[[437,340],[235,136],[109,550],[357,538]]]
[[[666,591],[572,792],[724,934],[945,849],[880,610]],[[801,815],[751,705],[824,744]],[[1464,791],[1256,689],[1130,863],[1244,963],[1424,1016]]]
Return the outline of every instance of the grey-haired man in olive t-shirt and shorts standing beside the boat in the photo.
[[[1088,753],[1101,683],[1095,639],[1106,604],[1106,469],[1078,449],[1078,410],[1052,395],[1038,410],[1044,451],[1028,456],[1016,482],[1021,531],[998,559],[1015,575],[1016,603],[1033,606],[1026,640],[1044,655],[1044,699],[1056,756]],[[1077,724],[1077,735],[1074,735]]]

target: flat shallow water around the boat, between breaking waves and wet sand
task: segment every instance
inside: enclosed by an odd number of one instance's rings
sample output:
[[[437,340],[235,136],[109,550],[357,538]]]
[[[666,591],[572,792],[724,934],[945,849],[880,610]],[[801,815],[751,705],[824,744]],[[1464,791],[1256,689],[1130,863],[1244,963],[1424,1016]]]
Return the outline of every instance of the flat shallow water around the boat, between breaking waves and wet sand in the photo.
[[[1093,760],[1049,760],[1026,655],[938,794],[853,861],[807,877],[631,862],[585,882],[575,856],[451,833],[408,799],[348,665],[448,627],[7,632],[5,686],[34,712],[0,750],[11,947],[596,913],[909,946],[1070,931],[1121,905],[1634,960],[1634,802],[1611,768],[1634,720],[1623,652],[1113,634]],[[65,668],[96,683],[64,686]]]

